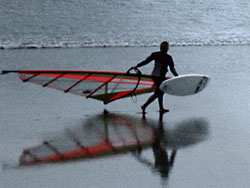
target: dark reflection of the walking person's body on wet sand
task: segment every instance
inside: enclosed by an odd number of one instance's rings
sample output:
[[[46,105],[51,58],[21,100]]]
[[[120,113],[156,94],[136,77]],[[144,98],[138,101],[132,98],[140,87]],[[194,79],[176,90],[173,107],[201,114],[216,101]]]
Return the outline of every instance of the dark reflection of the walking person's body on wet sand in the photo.
[[[146,158],[143,158],[141,151],[138,151],[135,154],[135,157],[141,163],[151,167],[153,171],[159,172],[162,178],[168,178],[169,173],[174,165],[177,151],[176,149],[173,149],[169,157],[166,149],[166,143],[164,142],[164,137],[166,137],[166,134],[164,132],[162,118],[163,114],[160,114],[158,127],[154,127],[155,140],[152,145],[152,150],[155,162],[152,163]],[[143,118],[143,121],[147,121],[146,118]]]

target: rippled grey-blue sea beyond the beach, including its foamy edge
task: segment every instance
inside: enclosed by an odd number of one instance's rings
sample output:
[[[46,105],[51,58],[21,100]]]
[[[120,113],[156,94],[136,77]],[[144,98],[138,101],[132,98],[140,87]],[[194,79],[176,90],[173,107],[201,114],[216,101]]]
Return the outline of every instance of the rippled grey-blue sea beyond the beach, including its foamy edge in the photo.
[[[247,0],[0,2],[0,48],[250,43]]]

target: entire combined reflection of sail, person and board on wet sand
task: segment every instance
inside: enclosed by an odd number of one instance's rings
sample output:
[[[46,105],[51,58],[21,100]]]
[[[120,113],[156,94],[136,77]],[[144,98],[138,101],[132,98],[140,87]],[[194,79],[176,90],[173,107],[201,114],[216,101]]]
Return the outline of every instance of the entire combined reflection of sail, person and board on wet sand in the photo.
[[[129,152],[167,178],[177,150],[200,143],[209,134],[208,122],[202,118],[184,120],[173,127],[169,129],[162,116],[155,121],[105,112],[86,119],[79,126],[64,129],[41,145],[25,149],[19,164],[93,159]],[[143,156],[143,151],[149,148],[154,153],[152,162]]]

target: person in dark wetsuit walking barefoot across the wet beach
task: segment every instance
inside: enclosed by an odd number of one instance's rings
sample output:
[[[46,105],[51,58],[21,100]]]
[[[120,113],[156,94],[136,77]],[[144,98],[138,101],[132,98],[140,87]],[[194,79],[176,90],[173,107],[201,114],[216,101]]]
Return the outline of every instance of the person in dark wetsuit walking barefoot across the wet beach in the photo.
[[[137,69],[138,67],[144,66],[153,60],[155,61],[154,69],[152,71],[152,76],[156,89],[154,94],[150,96],[149,99],[146,101],[146,103],[141,106],[143,113],[145,113],[147,106],[150,103],[152,103],[156,98],[158,98],[159,112],[164,113],[169,111],[168,109],[164,109],[163,107],[164,93],[159,88],[161,83],[165,80],[166,73],[168,72],[168,67],[170,68],[174,76],[178,76],[178,73],[176,72],[174,67],[174,61],[172,57],[169,54],[167,54],[168,50],[169,50],[169,44],[168,42],[164,41],[160,45],[159,52],[153,52],[144,61],[140,62],[135,67],[133,67],[134,69]]]

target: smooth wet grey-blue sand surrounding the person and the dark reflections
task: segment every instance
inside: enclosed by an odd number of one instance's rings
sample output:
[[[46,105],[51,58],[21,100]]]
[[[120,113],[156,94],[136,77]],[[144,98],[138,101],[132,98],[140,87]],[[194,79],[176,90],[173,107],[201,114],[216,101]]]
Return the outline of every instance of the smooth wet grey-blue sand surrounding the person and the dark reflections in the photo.
[[[60,69],[126,72],[156,47],[1,50],[2,70]],[[22,83],[16,74],[0,76],[0,161],[3,187],[248,187],[250,180],[250,46],[171,47],[179,74],[211,77],[201,93],[188,97],[164,96],[170,112],[166,130],[202,118],[206,140],[178,148],[168,178],[139,163],[131,154],[29,168],[11,168],[24,148],[40,144],[65,127],[77,126],[104,109],[140,118],[140,105],[149,95],[103,105],[38,85]],[[141,68],[150,74],[153,64]],[[169,73],[170,76],[172,76]],[[158,104],[147,109],[157,121]],[[191,126],[192,127],[192,126]],[[192,128],[185,127],[186,133]],[[182,134],[185,134],[185,132]],[[176,138],[176,141],[178,138]],[[170,148],[171,151],[171,148]],[[143,155],[154,162],[152,149]]]

